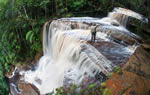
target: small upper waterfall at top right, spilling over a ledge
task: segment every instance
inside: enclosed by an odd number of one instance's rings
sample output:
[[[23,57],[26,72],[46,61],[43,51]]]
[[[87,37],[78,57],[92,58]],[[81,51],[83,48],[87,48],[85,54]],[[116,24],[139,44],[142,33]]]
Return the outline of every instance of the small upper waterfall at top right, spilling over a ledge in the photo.
[[[106,22],[111,22],[112,24],[120,25],[126,27],[130,18],[136,18],[142,22],[148,22],[147,18],[144,18],[143,15],[138,14],[134,11],[125,9],[125,8],[114,8],[113,12],[108,13],[108,17],[104,18],[103,20]]]

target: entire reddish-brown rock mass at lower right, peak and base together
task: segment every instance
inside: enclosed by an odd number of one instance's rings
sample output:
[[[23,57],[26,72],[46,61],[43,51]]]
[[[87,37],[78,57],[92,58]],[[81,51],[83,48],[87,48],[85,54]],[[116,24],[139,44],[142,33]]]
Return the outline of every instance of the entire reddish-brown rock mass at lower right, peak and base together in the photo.
[[[149,95],[150,55],[143,48],[136,49],[122,70],[106,81],[112,95]]]

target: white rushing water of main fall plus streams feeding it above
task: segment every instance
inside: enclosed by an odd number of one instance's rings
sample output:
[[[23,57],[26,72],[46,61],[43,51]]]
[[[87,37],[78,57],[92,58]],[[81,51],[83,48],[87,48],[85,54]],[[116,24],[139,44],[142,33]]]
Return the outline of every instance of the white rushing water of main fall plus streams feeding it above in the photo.
[[[118,13],[121,13],[121,10]],[[112,42],[109,38],[110,31],[130,33],[124,27],[126,25],[122,26],[117,19],[112,18],[109,15],[107,19],[63,18],[51,24],[47,22],[43,30],[44,55],[40,58],[35,71],[25,72],[24,80],[35,85],[41,94],[46,94],[61,87],[65,79],[69,79],[68,83],[80,84],[85,74],[94,77],[96,73],[103,72],[108,75],[116,65],[87,43],[91,39],[90,26],[82,22],[102,24],[97,32],[97,38],[100,41]],[[126,19],[123,21],[126,24]],[[75,29],[72,28],[74,22]],[[113,26],[112,22],[118,23],[119,26]],[[106,32],[102,32],[104,29]],[[124,47],[122,52],[131,55],[135,48]]]

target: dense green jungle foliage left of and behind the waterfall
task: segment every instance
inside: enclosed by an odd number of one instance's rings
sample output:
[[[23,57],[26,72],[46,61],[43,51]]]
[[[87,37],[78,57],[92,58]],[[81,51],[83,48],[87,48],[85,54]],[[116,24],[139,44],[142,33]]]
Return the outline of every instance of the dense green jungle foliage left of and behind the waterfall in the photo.
[[[0,95],[9,93],[5,74],[10,68],[42,51],[42,27],[46,21],[72,16],[103,17],[114,7],[150,17],[149,0],[0,0]],[[141,35],[148,39],[149,32],[142,31]]]

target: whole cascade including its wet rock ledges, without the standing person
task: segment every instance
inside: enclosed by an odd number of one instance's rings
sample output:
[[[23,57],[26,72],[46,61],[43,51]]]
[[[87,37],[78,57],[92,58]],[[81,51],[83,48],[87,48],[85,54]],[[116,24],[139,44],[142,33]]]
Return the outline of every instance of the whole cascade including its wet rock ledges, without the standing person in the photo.
[[[122,9],[114,12],[116,17],[128,15]],[[116,66],[125,63],[122,60],[132,55],[140,37],[125,28],[127,18],[119,16],[120,21],[114,12],[103,19],[62,18],[47,22],[43,30],[44,55],[35,71],[24,73],[24,80],[46,94],[64,84],[81,84],[85,76],[95,77],[97,73],[107,76]],[[128,13],[131,14],[128,16],[142,18],[132,11]],[[89,41],[92,24],[99,25],[95,43]]]

